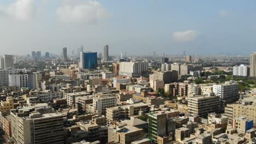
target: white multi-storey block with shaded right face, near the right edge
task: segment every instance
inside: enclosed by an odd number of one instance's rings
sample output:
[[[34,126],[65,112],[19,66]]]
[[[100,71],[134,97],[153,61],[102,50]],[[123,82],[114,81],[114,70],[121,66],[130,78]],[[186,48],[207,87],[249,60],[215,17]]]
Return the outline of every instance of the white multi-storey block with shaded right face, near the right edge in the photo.
[[[226,81],[224,84],[213,85],[213,93],[219,96],[220,100],[230,102],[238,99],[238,83]]]

